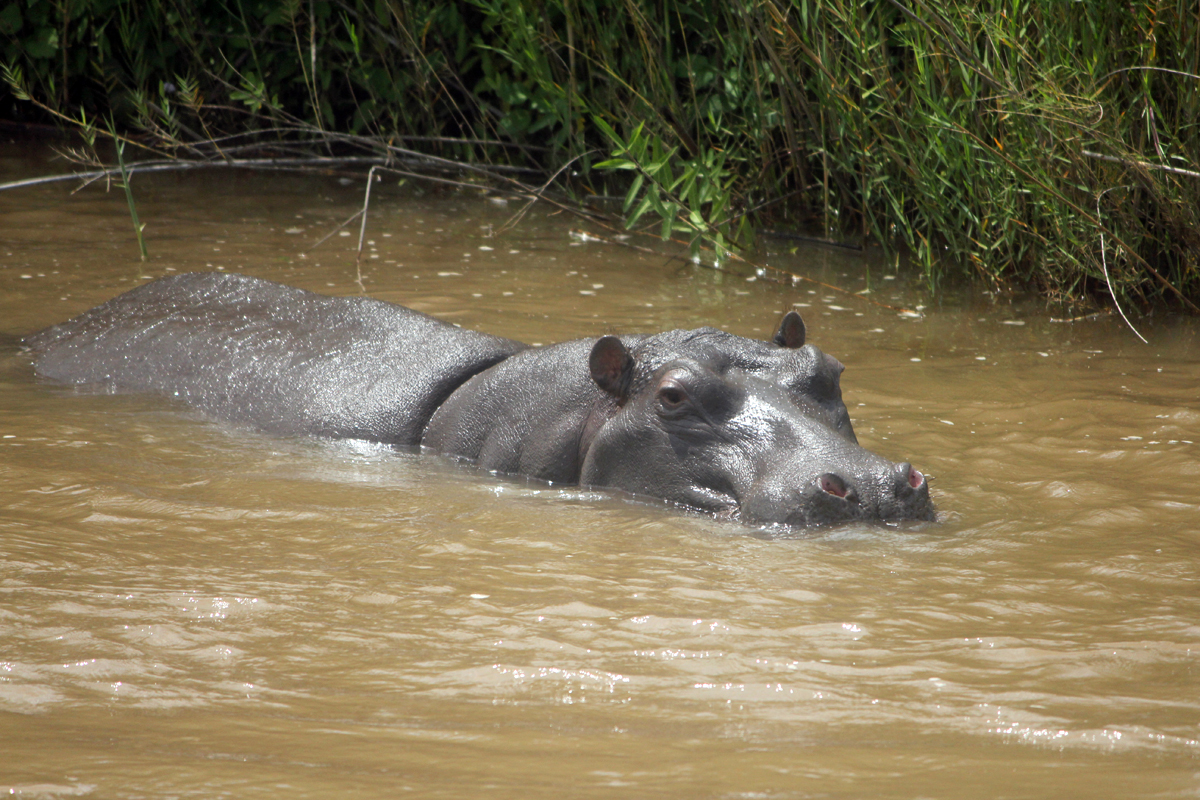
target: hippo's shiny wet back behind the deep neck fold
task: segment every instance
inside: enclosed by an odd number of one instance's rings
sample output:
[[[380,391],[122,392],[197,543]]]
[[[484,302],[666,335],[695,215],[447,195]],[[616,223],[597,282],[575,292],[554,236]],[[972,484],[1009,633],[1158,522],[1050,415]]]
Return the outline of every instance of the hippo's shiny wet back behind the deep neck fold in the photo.
[[[148,283],[26,344],[42,378],[175,396],[268,433],[402,445],[463,381],[526,349],[379,300],[217,272]]]

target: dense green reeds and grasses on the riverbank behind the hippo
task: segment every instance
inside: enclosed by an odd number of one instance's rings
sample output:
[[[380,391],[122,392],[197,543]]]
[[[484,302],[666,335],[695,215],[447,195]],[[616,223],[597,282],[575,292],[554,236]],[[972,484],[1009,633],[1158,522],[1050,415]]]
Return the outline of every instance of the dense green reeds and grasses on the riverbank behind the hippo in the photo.
[[[160,157],[521,167],[702,258],[1200,311],[1194,1],[34,0],[0,42],[0,115]]]

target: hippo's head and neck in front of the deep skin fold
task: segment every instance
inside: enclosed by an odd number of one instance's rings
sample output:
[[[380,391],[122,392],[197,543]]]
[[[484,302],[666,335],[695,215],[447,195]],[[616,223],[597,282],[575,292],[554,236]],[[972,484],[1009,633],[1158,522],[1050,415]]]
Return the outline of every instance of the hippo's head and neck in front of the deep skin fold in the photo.
[[[934,519],[918,470],[858,445],[840,373],[811,345],[714,329],[564,342],[473,377],[422,445],[749,524]]]

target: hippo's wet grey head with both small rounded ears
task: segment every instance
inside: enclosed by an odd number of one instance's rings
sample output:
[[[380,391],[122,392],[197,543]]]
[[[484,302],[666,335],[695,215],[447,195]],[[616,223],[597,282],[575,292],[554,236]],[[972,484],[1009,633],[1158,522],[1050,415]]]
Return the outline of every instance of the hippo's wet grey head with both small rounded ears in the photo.
[[[858,445],[841,365],[803,345],[803,323],[788,337],[794,321],[785,318],[762,343],[788,357],[731,356],[727,347],[670,357],[661,342],[630,349],[614,336],[599,339],[592,379],[616,411],[588,445],[581,483],[750,524],[932,519],[925,477]]]

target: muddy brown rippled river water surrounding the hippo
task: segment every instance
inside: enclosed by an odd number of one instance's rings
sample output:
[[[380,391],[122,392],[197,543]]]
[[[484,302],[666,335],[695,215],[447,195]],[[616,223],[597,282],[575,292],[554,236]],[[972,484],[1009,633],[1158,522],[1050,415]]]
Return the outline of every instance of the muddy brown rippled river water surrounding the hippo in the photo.
[[[5,145],[0,180],[56,169]],[[572,239],[476,192],[374,194],[366,293],[527,342],[799,303],[859,439],[935,525],[768,536],[160,398],[40,385],[18,337],[149,277],[356,294],[362,182],[0,193],[0,789],[18,796],[1200,794],[1200,327],[860,297]]]

